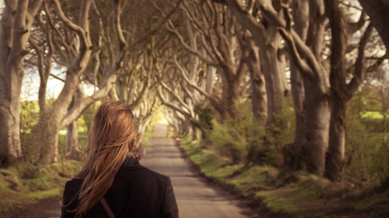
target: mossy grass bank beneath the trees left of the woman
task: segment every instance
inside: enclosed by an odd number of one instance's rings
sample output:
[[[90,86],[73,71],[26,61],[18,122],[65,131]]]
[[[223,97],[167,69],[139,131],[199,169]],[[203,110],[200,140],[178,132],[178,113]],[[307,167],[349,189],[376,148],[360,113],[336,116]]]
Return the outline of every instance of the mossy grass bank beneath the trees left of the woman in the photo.
[[[40,199],[60,197],[65,182],[80,169],[81,162],[75,160],[40,167],[19,163],[0,169],[0,215]]]

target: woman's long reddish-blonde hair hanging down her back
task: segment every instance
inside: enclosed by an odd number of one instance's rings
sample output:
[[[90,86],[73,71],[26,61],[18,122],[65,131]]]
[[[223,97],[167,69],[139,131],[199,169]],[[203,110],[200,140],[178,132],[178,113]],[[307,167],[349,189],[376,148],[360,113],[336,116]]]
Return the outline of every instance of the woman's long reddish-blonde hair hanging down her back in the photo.
[[[131,110],[107,100],[96,111],[88,134],[87,161],[74,178],[82,179],[76,217],[85,215],[112,185],[127,156],[134,155],[137,131]]]

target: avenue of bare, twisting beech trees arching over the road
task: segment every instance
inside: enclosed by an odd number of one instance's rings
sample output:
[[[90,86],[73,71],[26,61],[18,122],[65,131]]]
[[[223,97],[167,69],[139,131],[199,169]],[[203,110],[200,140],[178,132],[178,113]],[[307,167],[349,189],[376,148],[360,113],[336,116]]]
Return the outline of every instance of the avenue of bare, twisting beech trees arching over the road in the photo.
[[[349,105],[366,87],[380,90],[380,146],[387,145],[389,4],[359,2],[5,1],[0,167],[82,156],[77,119],[114,98],[134,112],[139,144],[163,112],[175,135],[214,146],[232,164],[270,164],[342,182],[356,160],[370,169],[367,159],[375,157],[357,156],[361,145],[348,130],[354,131]],[[39,112],[21,142],[25,69],[40,78]],[[47,97],[49,78],[63,83],[54,99]],[[354,115],[368,123],[362,114]],[[65,128],[62,151],[58,133]]]

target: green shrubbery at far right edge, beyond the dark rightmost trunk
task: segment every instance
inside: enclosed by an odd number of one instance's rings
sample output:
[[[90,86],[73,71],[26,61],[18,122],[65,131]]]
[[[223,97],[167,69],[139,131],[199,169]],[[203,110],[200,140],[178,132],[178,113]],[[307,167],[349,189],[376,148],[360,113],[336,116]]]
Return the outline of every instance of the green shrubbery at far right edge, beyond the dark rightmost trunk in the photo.
[[[389,147],[384,142],[382,114],[363,110],[364,94],[358,93],[347,107],[344,178],[351,185],[379,185],[389,176]]]

